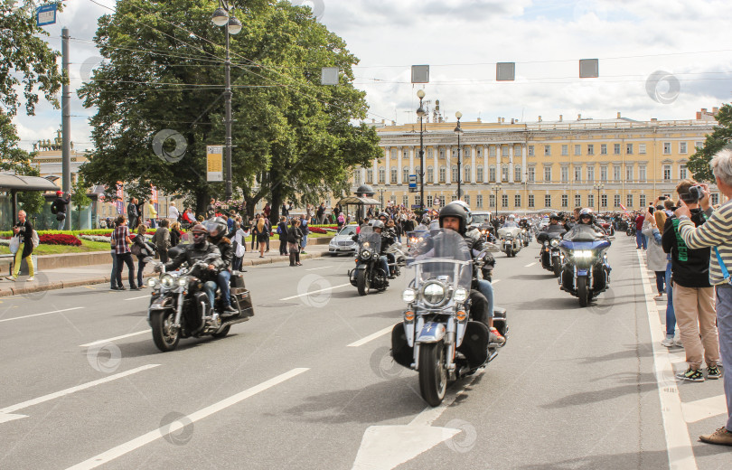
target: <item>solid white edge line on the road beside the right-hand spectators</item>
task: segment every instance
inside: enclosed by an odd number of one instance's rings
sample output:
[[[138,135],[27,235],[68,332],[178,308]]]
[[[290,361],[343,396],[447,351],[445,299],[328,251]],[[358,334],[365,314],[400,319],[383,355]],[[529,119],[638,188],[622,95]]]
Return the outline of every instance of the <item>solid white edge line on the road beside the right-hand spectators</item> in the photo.
[[[656,302],[653,300],[653,291],[648,276],[643,272],[645,266],[643,255],[636,252],[643,283],[645,308],[648,312],[648,324],[651,329],[651,344],[653,348],[653,372],[658,383],[658,395],[661,399],[661,416],[663,431],[666,436],[666,450],[671,468],[686,468],[696,470],[697,461],[691,448],[689,428],[686,425],[681,407],[679,386],[671,364],[671,355],[665,346],[662,346],[662,336],[665,331],[661,324]]]

